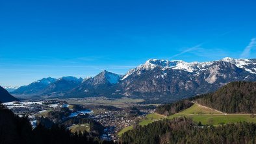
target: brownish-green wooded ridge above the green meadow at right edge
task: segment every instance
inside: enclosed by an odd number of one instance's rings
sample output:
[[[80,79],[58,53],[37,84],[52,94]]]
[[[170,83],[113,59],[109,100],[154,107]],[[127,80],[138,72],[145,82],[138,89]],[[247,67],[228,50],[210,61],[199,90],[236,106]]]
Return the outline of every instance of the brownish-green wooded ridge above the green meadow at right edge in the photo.
[[[200,95],[199,104],[225,113],[256,113],[256,82],[231,82],[214,93]]]

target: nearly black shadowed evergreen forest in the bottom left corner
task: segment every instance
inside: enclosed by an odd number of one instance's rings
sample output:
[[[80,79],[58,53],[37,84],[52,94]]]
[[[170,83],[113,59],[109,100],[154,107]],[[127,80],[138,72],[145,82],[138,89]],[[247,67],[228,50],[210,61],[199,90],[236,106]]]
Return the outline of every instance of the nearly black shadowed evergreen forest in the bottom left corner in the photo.
[[[38,124],[32,129],[27,117],[14,115],[0,104],[0,143],[1,144],[70,144],[70,143],[113,143],[101,141],[87,132],[72,134],[64,125],[51,125],[46,128]]]

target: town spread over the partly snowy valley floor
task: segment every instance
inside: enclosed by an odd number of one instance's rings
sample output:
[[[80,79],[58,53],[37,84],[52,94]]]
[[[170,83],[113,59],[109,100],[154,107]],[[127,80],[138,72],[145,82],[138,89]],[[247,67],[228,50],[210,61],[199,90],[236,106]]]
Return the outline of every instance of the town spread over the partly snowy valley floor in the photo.
[[[118,132],[123,128],[136,125],[145,115],[155,111],[154,106],[142,106],[134,104],[125,108],[117,108],[115,106],[83,106],[81,104],[69,104],[66,101],[53,99],[49,101],[16,101],[3,103],[8,109],[19,117],[28,117],[33,128],[38,123],[64,123],[72,121],[72,119],[90,119],[101,125],[103,128],[98,130],[99,138],[103,140],[118,140]],[[44,120],[42,120],[44,119]],[[45,120],[46,119],[46,120]],[[92,132],[92,123],[68,123],[66,128],[71,132]]]

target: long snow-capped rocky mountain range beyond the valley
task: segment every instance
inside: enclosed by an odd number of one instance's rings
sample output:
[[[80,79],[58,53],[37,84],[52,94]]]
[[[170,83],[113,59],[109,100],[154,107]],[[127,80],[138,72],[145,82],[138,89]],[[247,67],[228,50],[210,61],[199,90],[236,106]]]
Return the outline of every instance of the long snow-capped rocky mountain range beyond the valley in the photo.
[[[150,59],[125,75],[102,71],[89,78],[43,78],[14,95],[49,97],[138,97],[174,101],[215,91],[233,81],[255,81],[256,59],[223,58],[212,62]],[[161,99],[162,97],[166,99]]]

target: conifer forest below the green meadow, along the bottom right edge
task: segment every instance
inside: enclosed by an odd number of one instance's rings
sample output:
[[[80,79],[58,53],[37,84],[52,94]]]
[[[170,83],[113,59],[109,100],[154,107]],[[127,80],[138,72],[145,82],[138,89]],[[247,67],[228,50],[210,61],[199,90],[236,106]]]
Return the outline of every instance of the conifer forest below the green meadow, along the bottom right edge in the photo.
[[[255,143],[255,123],[201,126],[191,119],[176,118],[136,126],[122,135],[121,143]]]

